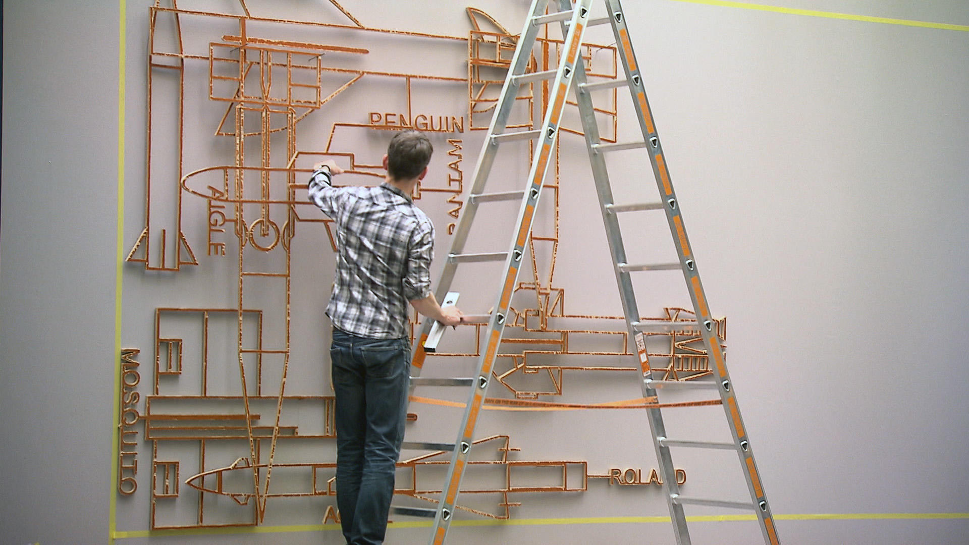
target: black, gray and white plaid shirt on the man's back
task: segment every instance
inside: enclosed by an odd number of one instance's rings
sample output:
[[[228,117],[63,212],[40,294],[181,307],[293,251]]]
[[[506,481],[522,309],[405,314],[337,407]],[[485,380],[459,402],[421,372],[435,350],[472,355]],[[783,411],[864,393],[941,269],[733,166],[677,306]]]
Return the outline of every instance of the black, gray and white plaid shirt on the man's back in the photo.
[[[333,325],[360,337],[407,336],[407,302],[431,294],[430,218],[387,182],[334,188],[328,169],[310,176],[309,200],[336,221]]]

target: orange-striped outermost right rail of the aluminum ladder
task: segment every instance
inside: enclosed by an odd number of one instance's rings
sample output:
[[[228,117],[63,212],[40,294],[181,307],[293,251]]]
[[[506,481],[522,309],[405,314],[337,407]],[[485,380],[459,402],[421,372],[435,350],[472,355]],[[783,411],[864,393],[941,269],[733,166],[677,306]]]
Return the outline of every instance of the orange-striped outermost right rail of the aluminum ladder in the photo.
[[[647,143],[647,148],[649,149],[649,160],[652,164],[653,173],[656,177],[656,184],[659,188],[660,195],[667,203],[667,206],[665,207],[667,220],[670,224],[670,231],[672,233],[673,243],[676,247],[676,253],[680,258],[683,276],[686,279],[687,290],[690,293],[690,299],[694,305],[697,321],[703,324],[701,333],[703,337],[703,344],[708,354],[707,358],[712,363],[714,372],[716,373],[720,382],[720,388],[718,388],[718,390],[720,392],[721,400],[723,401],[728,425],[731,429],[731,433],[734,436],[735,444],[737,445],[737,456],[740,459],[741,469],[747,482],[747,488],[750,492],[750,496],[753,498],[754,504],[757,507],[754,509],[754,511],[757,514],[765,543],[769,543],[770,545],[779,545],[780,541],[777,537],[777,529],[774,525],[769,505],[766,502],[766,496],[764,494],[764,487],[761,482],[760,473],[757,470],[757,465],[754,463],[753,450],[750,446],[746,429],[744,428],[743,421],[740,417],[740,410],[736,401],[734,389],[731,387],[730,376],[727,373],[723,356],[723,347],[720,344],[720,340],[716,337],[716,332],[713,331],[712,326],[714,322],[703,292],[703,285],[700,281],[700,273],[697,269],[696,262],[694,261],[689,240],[686,237],[686,229],[683,226],[680,208],[678,202],[676,201],[675,193],[672,189],[672,180],[666,166],[663,148],[659,141],[659,135],[656,132],[655,123],[652,118],[652,113],[649,110],[648,101],[646,100],[645,90],[643,88],[640,73],[640,65],[637,62],[636,54],[630,41],[629,31],[626,28],[626,17],[622,16],[622,7],[619,0],[605,0],[605,2],[607,9],[609,10],[610,24],[612,26],[612,33],[616,39],[619,57],[622,60],[622,65],[626,72],[627,80],[630,82],[630,94],[632,95],[633,105],[640,119],[643,140],[645,140]]]

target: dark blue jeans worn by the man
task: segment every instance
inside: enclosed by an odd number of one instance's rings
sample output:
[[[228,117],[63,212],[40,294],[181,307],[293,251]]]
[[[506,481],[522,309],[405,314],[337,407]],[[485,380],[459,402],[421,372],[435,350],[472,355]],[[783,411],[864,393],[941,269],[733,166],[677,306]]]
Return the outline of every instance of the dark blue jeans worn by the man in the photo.
[[[350,545],[379,545],[387,533],[407,420],[410,356],[406,337],[358,337],[333,328],[336,506]]]

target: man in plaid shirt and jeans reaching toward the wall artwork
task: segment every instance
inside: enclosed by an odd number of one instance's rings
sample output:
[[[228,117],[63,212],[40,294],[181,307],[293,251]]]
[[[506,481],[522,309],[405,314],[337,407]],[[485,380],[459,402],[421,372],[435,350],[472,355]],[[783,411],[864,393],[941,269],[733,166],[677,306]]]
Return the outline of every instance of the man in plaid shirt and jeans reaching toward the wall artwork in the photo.
[[[384,542],[393,477],[407,418],[410,343],[407,302],[456,326],[461,312],[442,308],[430,286],[434,226],[411,200],[433,147],[417,131],[396,134],[378,187],[331,186],[343,171],[316,165],[309,199],[336,221],[336,279],[327,306],[336,395],[336,505],[349,545]]]

